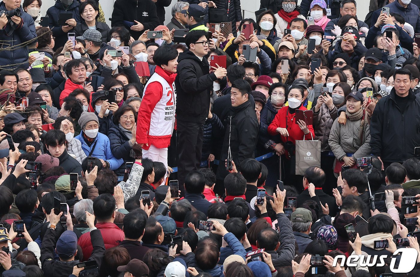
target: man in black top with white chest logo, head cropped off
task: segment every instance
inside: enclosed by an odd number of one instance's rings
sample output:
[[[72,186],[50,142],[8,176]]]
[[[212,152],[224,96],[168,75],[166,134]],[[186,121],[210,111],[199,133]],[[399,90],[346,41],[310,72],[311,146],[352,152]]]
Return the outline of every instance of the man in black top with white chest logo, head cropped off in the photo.
[[[152,0],[118,0],[114,3],[111,26],[124,26],[134,40],[145,30],[154,30],[159,24],[156,5]]]

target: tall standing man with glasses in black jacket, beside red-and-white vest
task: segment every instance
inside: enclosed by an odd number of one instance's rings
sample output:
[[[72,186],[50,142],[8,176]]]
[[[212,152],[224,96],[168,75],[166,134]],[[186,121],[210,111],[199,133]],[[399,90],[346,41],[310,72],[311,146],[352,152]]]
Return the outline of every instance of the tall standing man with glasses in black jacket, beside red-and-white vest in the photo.
[[[207,32],[196,30],[185,37],[188,51],[178,57],[176,86],[176,124],[178,133],[178,181],[184,184],[186,174],[198,170],[203,145],[204,122],[209,114],[213,82],[226,76],[226,69],[213,68],[209,73],[206,58],[209,51]],[[183,187],[180,186],[181,190]]]

